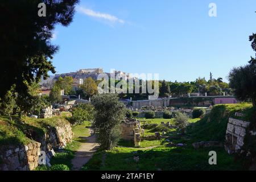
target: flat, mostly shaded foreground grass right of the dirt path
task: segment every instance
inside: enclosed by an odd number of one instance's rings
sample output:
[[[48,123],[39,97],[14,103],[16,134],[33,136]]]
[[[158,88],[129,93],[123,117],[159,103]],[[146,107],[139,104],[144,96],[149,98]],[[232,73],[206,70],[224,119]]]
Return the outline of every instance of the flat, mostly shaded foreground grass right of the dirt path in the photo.
[[[209,165],[209,151],[217,152],[217,165]],[[136,152],[136,153],[134,153]],[[104,164],[102,162],[105,155]],[[139,156],[135,162],[134,156]],[[223,148],[195,150],[186,147],[159,147],[144,150],[131,147],[115,147],[113,150],[97,152],[85,164],[83,170],[238,170],[241,162],[234,163],[232,155]]]

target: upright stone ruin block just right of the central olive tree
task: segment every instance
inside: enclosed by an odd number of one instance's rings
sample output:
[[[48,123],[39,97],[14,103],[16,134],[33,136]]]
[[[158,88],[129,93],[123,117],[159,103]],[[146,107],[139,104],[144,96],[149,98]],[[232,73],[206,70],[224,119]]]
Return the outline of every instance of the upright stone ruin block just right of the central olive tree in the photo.
[[[139,147],[141,142],[141,134],[144,130],[141,129],[141,122],[137,119],[126,119],[122,123],[122,139],[123,140],[133,140],[134,146]]]

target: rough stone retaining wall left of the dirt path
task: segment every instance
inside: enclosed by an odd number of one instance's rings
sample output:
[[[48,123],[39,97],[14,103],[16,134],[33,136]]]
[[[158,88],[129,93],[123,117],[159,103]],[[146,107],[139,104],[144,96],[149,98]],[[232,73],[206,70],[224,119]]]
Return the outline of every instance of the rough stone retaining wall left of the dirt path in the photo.
[[[0,171],[28,171],[38,167],[40,152],[47,154],[47,161],[54,153],[53,148],[64,148],[72,142],[73,133],[69,123],[64,126],[48,128],[48,132],[38,142],[27,145],[5,146],[0,149]]]

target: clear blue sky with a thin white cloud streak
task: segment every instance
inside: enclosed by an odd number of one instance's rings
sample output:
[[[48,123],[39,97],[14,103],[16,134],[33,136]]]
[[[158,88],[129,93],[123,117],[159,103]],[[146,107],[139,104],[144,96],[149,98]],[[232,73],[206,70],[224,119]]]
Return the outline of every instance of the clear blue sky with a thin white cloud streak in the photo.
[[[216,3],[217,17],[208,15]],[[226,77],[255,55],[256,1],[81,0],[73,22],[57,26],[57,73],[80,68],[159,73],[168,81]]]

